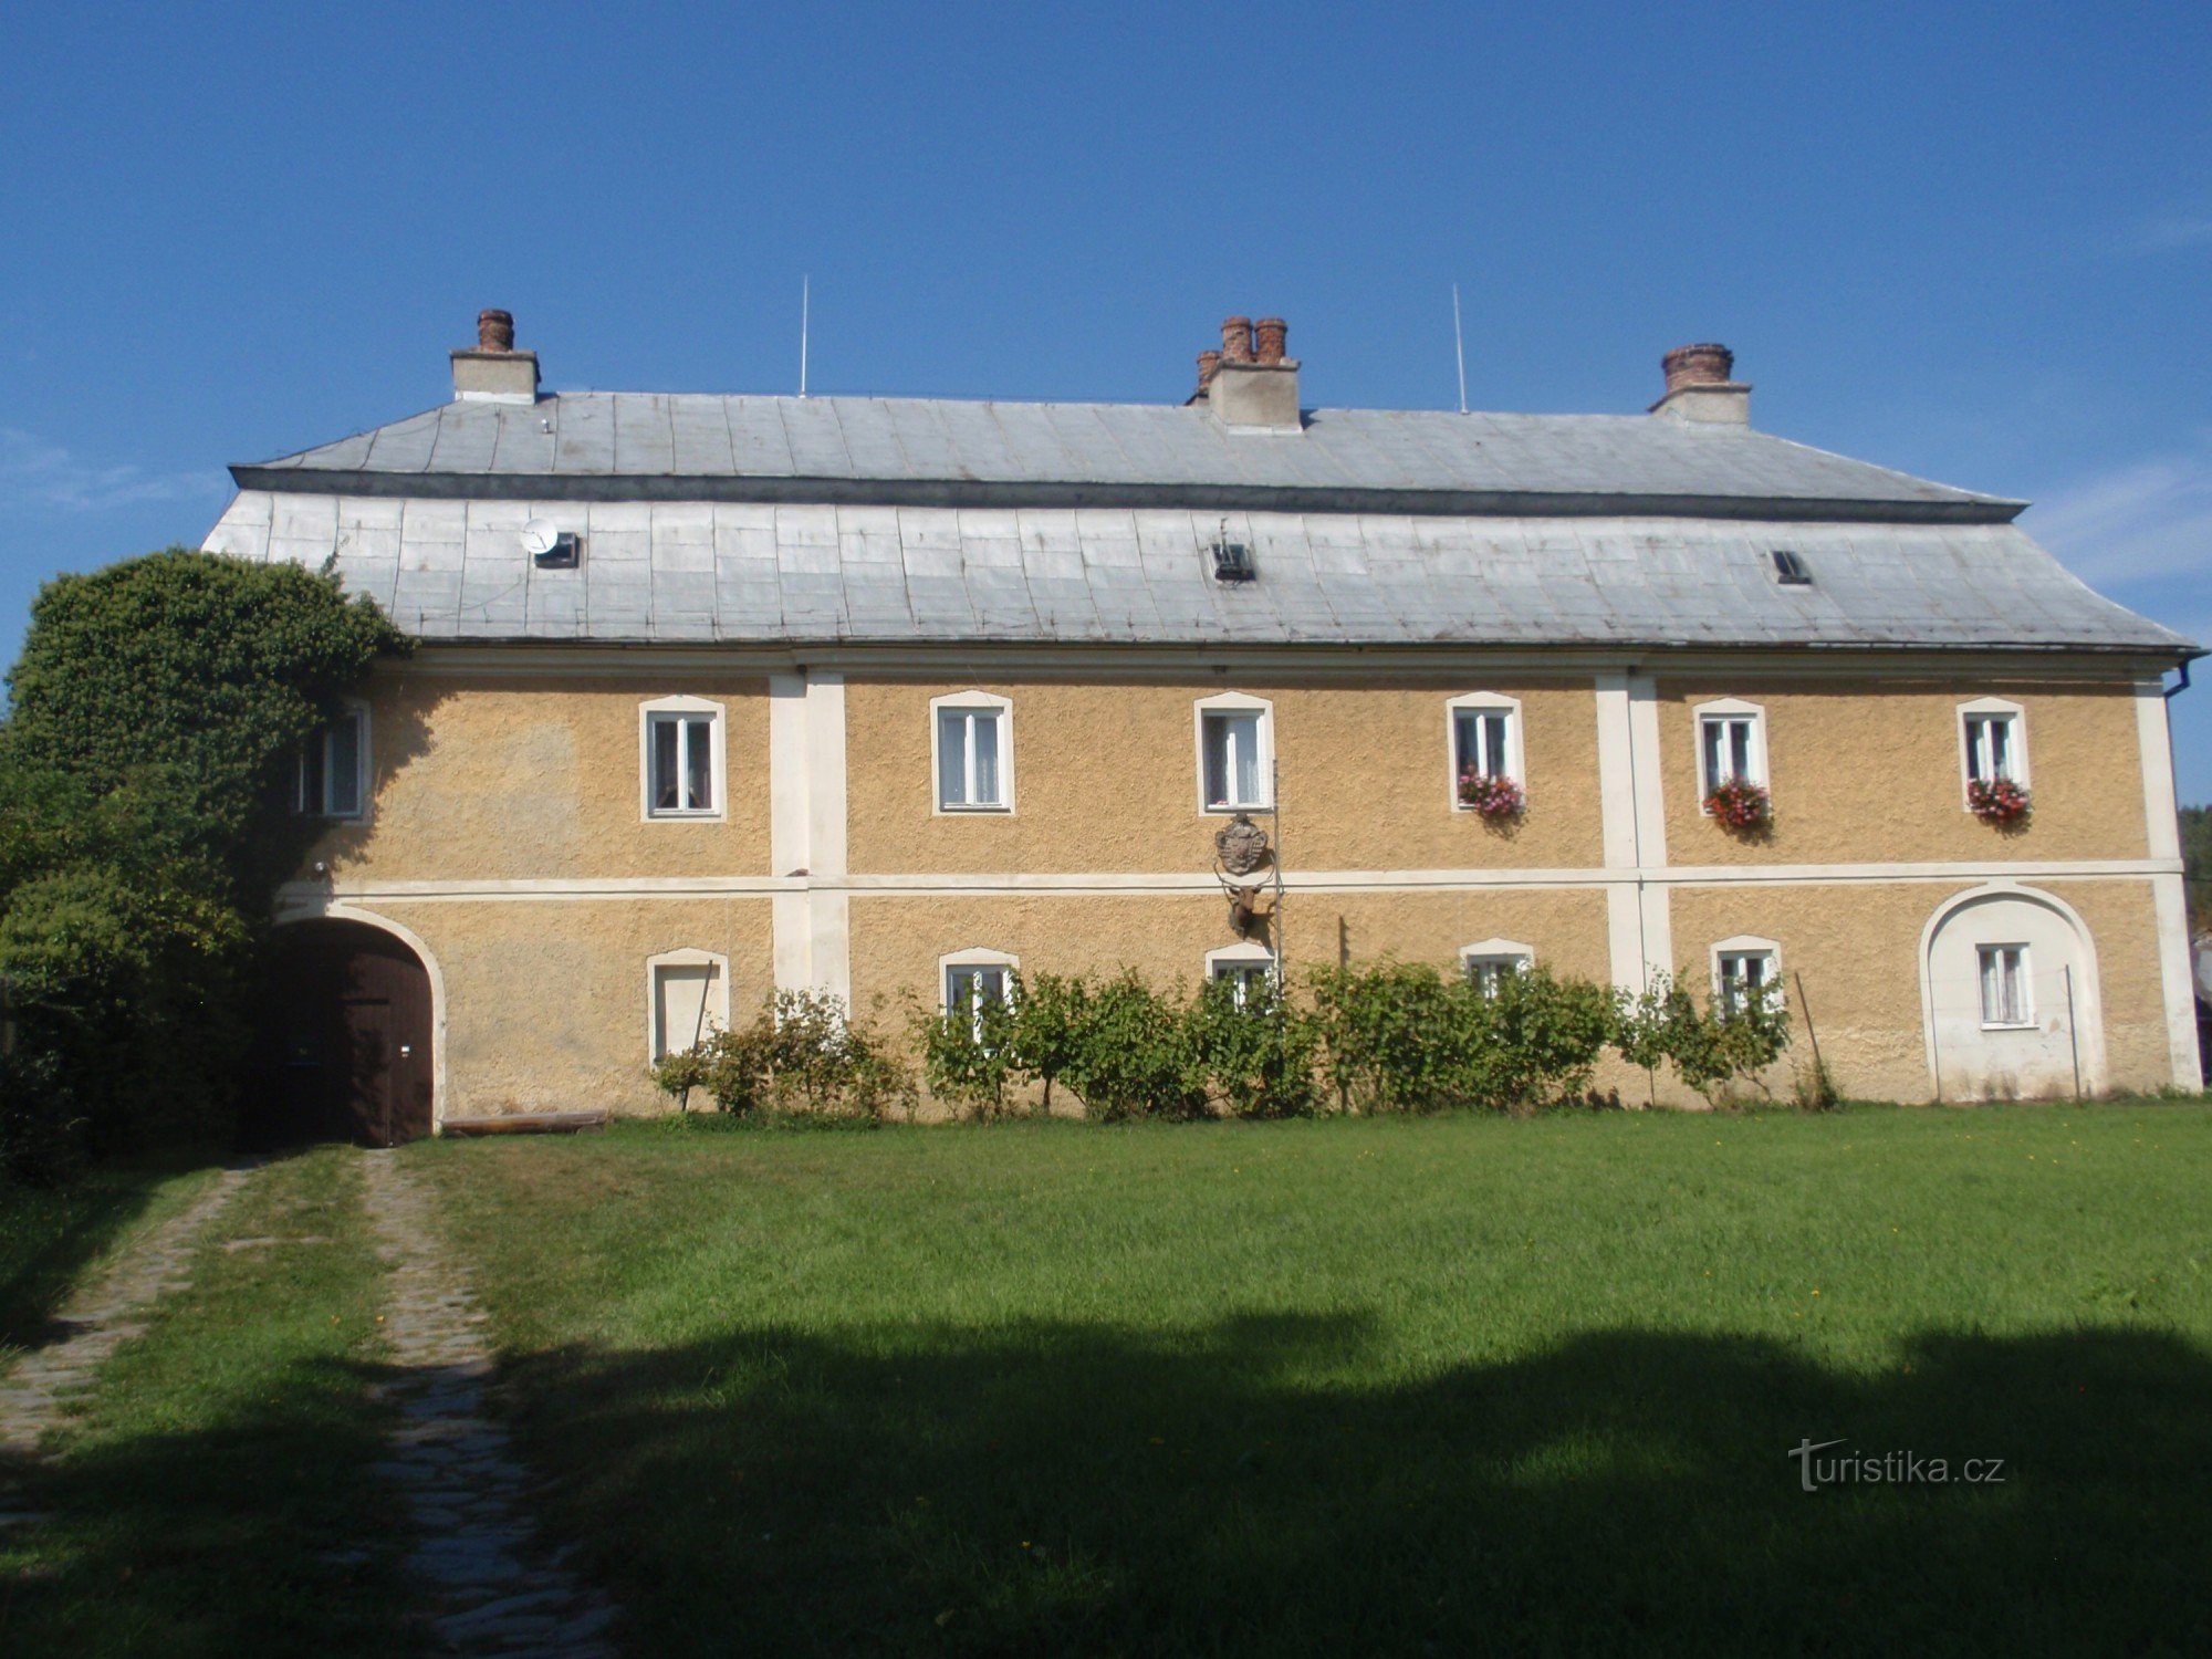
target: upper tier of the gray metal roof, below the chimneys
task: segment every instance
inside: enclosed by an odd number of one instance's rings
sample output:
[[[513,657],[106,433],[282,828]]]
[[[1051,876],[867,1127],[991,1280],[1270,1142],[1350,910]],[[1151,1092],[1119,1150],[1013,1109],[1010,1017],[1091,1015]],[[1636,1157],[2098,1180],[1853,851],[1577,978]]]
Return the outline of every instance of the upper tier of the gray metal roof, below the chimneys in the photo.
[[[1747,427],[1652,416],[1312,409],[1298,434],[1206,407],[564,392],[427,414],[232,467],[241,489],[533,500],[1697,511],[2008,522],[2022,502]]]

